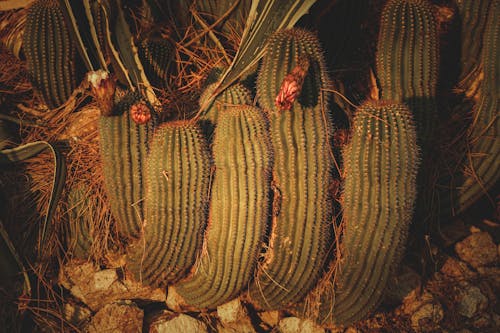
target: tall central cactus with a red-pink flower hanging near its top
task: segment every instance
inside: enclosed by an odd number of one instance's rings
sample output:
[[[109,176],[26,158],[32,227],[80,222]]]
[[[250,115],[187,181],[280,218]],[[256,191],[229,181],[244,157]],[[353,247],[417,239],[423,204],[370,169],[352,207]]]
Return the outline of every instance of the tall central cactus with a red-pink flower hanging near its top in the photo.
[[[257,95],[269,113],[276,190],[270,245],[249,292],[258,306],[280,309],[300,301],[326,263],[332,241],[328,185],[333,160],[329,116],[320,103],[320,89],[328,81],[317,39],[293,29],[276,33],[267,45]],[[289,110],[280,110],[275,102],[282,82],[304,69],[302,59],[310,63],[302,91]]]

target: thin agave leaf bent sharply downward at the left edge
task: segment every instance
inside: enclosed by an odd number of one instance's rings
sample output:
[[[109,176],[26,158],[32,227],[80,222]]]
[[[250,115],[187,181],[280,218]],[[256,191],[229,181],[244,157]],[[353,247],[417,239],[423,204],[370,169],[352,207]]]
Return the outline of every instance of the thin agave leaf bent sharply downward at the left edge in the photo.
[[[61,153],[52,144],[46,141],[36,141],[27,143],[16,148],[4,149],[0,151],[0,166],[9,165],[15,162],[25,161],[31,157],[34,157],[41,153],[42,151],[49,149],[54,155],[54,176],[52,191],[50,194],[49,205],[47,207],[47,214],[45,215],[45,220],[43,222],[42,228],[40,228],[40,253],[41,258],[45,255],[46,246],[46,235],[51,232],[49,229],[51,226],[52,217],[55,213],[57,203],[61,197],[62,190],[64,188],[64,183],[66,181],[66,161]],[[48,231],[47,231],[48,230]]]

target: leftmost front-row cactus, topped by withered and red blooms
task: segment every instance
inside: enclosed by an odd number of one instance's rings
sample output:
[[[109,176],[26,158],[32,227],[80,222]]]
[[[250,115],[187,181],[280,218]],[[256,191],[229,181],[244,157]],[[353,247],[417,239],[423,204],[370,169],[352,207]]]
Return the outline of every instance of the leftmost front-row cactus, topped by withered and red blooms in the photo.
[[[129,93],[116,106],[115,114],[99,120],[99,141],[106,193],[118,231],[125,237],[137,237],[144,219],[143,172],[153,123],[137,124],[130,109],[145,103]],[[152,108],[150,108],[152,110]],[[153,113],[153,111],[151,111]]]

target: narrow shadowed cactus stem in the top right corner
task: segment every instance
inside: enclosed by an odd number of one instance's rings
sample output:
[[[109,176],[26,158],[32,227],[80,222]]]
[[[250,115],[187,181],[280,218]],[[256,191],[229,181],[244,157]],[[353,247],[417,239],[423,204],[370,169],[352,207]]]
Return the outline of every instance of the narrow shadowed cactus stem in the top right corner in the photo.
[[[458,0],[460,15],[460,78],[458,86],[469,90],[475,86],[481,71],[479,62],[483,32],[486,25],[491,0]]]

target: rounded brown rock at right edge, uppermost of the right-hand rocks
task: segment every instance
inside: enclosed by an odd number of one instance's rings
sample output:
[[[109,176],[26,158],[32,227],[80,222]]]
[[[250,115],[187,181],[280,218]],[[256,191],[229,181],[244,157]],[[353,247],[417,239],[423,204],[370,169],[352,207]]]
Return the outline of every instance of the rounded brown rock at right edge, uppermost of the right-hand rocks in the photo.
[[[487,232],[475,232],[455,245],[460,259],[474,268],[498,262],[498,248]]]

